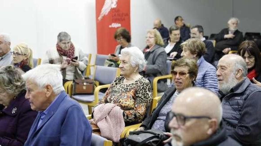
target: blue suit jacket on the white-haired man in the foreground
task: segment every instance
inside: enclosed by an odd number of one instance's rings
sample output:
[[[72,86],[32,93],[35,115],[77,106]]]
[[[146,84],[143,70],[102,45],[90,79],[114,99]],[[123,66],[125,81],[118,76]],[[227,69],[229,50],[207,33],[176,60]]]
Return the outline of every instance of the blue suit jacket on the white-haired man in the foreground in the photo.
[[[24,146],[90,146],[92,128],[81,106],[64,91],[38,125],[38,113]]]

